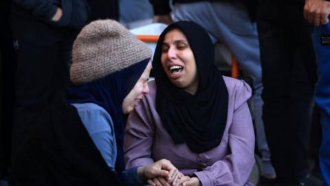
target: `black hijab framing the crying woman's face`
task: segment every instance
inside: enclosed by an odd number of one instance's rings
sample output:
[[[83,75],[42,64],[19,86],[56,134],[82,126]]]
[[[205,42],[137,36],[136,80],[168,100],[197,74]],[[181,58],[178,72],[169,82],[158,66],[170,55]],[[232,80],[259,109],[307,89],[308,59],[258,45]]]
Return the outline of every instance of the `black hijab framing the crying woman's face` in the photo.
[[[160,61],[166,33],[184,33],[195,56],[199,87],[195,95],[170,83]],[[186,143],[195,153],[217,147],[227,122],[228,90],[214,65],[214,45],[208,32],[191,21],[175,22],[162,32],[153,58],[157,85],[156,109],[175,143]]]

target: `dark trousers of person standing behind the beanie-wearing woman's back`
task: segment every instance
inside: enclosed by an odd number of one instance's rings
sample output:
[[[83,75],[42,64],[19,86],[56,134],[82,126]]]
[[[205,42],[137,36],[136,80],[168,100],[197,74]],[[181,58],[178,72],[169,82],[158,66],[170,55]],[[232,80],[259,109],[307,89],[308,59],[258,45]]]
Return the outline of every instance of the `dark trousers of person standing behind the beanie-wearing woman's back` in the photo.
[[[12,37],[17,56],[12,153],[54,94],[69,82],[68,61],[76,32],[54,28],[12,13]]]

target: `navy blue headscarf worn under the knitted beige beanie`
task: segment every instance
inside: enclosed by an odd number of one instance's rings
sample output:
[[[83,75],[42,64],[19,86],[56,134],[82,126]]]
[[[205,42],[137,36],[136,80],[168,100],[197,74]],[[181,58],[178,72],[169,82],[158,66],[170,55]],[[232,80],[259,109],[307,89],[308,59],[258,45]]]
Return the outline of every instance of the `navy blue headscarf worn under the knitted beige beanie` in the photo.
[[[69,103],[95,103],[110,114],[117,143],[117,160],[115,162],[117,171],[124,170],[122,145],[126,123],[122,112],[122,101],[140,79],[148,61],[150,59],[144,59],[128,68],[83,85],[72,86],[67,90]]]

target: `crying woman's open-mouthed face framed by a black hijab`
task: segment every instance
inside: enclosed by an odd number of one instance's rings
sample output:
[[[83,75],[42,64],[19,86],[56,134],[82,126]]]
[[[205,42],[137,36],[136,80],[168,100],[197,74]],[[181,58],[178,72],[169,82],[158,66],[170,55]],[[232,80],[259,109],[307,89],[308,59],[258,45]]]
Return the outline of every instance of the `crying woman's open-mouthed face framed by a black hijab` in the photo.
[[[194,54],[181,30],[170,30],[164,37],[161,56],[163,69],[173,85],[190,94],[197,92],[199,78]]]

